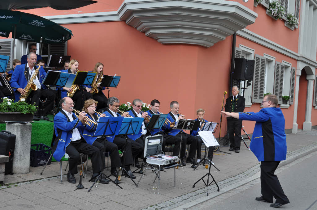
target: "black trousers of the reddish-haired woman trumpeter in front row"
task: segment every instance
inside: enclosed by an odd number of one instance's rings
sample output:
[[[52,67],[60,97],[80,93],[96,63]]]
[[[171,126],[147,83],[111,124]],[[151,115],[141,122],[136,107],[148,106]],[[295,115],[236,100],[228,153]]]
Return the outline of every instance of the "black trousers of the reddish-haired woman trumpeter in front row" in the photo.
[[[105,156],[103,155],[104,145],[106,147],[105,152],[110,152],[111,168],[122,166],[119,151],[118,151],[118,146],[110,141],[103,139],[103,138],[97,138],[94,141],[93,146],[97,147],[100,151],[101,163],[102,163],[103,159],[105,158]],[[100,148],[101,148],[101,150],[100,150]],[[104,167],[104,169],[106,168],[105,161],[104,161],[103,167]]]

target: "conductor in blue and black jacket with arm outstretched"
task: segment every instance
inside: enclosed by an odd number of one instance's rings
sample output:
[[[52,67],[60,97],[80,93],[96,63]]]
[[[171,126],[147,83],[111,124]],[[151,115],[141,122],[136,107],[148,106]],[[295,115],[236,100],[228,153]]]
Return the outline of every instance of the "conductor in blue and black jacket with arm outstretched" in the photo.
[[[277,108],[278,99],[269,94],[263,98],[263,108],[257,112],[223,112],[226,117],[240,120],[256,121],[250,149],[256,158],[261,161],[261,197],[257,201],[270,202],[271,207],[280,207],[289,203],[287,196],[274,172],[281,160],[286,159],[285,119],[280,108]],[[276,198],[273,203],[273,197]]]

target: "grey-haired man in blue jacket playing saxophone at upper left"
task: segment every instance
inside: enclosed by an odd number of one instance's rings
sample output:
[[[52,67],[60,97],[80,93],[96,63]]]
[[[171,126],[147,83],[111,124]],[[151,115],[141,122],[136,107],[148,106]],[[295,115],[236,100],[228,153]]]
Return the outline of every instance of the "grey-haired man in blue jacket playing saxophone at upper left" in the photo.
[[[38,66],[36,66],[35,64],[36,54],[34,52],[29,52],[29,54],[27,55],[27,63],[25,65],[17,65],[15,67],[15,71],[12,73],[12,77],[10,80],[11,87],[16,88],[15,101],[19,100],[21,94],[24,95],[26,93],[27,90],[25,90],[24,88],[28,84],[29,78],[31,78],[35,73],[35,69],[38,68]],[[41,66],[39,72],[36,75],[36,78],[33,80],[33,83],[36,84],[37,90],[31,90],[29,98],[27,98],[27,102],[30,101],[30,104],[34,104],[37,107],[37,110],[40,105],[40,99],[43,101],[46,99],[46,102],[44,103],[42,108],[43,111],[41,113],[43,115],[47,114],[53,106],[53,93],[49,91],[45,85],[42,85],[45,76],[46,72]],[[37,112],[36,115],[38,114],[39,112]],[[48,120],[49,118],[44,117],[44,119]]]

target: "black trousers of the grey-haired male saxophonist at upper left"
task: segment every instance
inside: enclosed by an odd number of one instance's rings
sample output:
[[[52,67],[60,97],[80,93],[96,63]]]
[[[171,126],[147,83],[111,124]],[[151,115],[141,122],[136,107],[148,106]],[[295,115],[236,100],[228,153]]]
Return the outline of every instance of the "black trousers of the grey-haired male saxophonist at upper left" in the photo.
[[[30,104],[34,104],[37,106],[37,114],[48,114],[50,110],[53,108],[53,98],[54,93],[52,91],[46,89],[37,89],[31,90],[29,99],[31,100]],[[44,104],[40,104],[40,99],[42,101],[46,100]]]

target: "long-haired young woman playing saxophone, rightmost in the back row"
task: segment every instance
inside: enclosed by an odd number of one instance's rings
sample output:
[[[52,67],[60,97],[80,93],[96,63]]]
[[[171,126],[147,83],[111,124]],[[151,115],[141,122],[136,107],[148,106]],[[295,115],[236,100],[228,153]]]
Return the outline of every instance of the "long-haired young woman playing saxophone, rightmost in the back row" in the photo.
[[[94,70],[92,72],[97,72],[97,77],[96,79],[94,80],[92,86],[90,85],[87,85],[88,88],[90,89],[93,89],[94,86],[96,86],[96,90],[98,90],[98,93],[96,92],[92,92],[91,94],[93,95],[93,98],[95,101],[97,101],[97,108],[96,110],[100,110],[100,109],[106,109],[107,108],[107,103],[108,103],[108,99],[107,97],[105,96],[105,94],[102,92],[102,90],[106,90],[105,87],[100,87],[100,83],[99,81],[101,81],[101,77],[103,77],[103,64],[100,63],[100,62],[97,62],[95,67],[94,67]],[[98,83],[97,83],[98,82]]]

